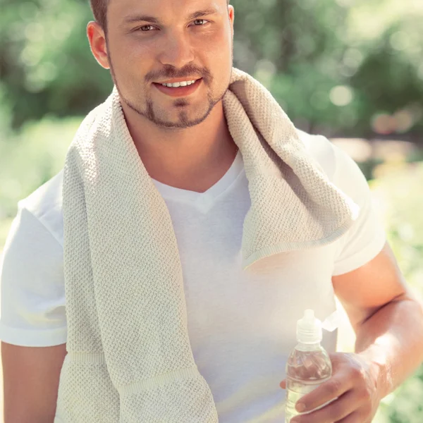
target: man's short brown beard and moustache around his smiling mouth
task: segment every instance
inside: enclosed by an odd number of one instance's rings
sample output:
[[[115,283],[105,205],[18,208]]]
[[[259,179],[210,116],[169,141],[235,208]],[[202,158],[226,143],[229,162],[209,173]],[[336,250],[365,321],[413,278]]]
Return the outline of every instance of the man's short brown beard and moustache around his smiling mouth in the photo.
[[[154,104],[154,100],[149,94],[146,94],[145,97],[140,97],[138,99],[130,99],[125,96],[120,89],[111,58],[109,58],[109,65],[111,78],[114,85],[116,85],[121,101],[125,102],[125,104],[135,111],[136,114],[142,116],[143,118],[147,118],[148,121],[154,123],[154,125],[157,125],[159,128],[183,129],[199,125],[207,119],[207,116],[209,116],[212,112],[214,106],[223,99],[229,86],[229,83],[227,83],[220,92],[214,93],[212,90],[212,82],[214,78],[206,68],[197,68],[195,66],[188,65],[182,70],[176,71],[173,66],[166,66],[164,71],[161,73],[155,72],[147,74],[145,76],[146,85],[148,82],[152,82],[154,80],[184,78],[185,76],[187,77],[187,80],[189,80],[192,78],[190,75],[202,75],[202,83],[204,83],[207,89],[207,101],[202,103],[202,105],[204,104],[204,108],[201,107],[201,110],[199,110],[199,107],[194,108],[193,106],[190,106],[190,101],[188,99],[180,98],[175,99],[173,104],[171,104],[171,106],[167,106],[165,109],[163,106],[159,106],[159,104]],[[136,91],[133,90],[133,92]]]

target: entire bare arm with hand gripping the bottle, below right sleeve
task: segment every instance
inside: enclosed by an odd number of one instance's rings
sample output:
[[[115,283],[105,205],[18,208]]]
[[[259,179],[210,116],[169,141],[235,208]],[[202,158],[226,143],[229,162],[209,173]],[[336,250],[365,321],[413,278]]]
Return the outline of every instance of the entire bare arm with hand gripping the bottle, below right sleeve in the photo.
[[[388,244],[372,261],[333,277],[355,330],[355,354],[331,354],[333,376],[302,397],[291,423],[370,423],[381,398],[423,361],[423,308]],[[285,381],[281,383],[285,387]]]

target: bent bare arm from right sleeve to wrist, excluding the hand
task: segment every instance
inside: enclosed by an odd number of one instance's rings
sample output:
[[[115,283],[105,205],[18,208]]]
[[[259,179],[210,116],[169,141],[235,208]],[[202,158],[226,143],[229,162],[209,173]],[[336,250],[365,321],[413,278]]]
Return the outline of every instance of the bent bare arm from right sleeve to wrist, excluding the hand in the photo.
[[[377,364],[379,393],[388,395],[423,361],[423,309],[398,269],[391,247],[355,271],[333,277],[355,330],[355,352]]]

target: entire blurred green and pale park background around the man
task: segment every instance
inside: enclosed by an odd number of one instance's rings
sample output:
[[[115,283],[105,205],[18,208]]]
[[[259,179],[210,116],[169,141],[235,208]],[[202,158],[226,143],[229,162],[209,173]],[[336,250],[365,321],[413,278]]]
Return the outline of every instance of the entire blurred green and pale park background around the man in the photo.
[[[423,0],[232,0],[235,66],[294,123],[360,165],[400,267],[423,294]],[[83,116],[111,90],[86,0],[2,0],[0,252],[18,200],[60,171]],[[345,317],[345,315],[344,315]],[[352,350],[343,321],[339,348]],[[423,422],[423,368],[376,423]]]

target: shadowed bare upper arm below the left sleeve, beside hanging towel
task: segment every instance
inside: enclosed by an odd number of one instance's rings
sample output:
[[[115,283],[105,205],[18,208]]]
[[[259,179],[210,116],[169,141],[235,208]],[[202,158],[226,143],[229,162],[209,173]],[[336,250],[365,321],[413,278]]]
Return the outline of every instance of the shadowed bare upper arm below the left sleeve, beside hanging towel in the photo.
[[[20,347],[1,343],[4,423],[54,422],[65,356],[66,344]]]

